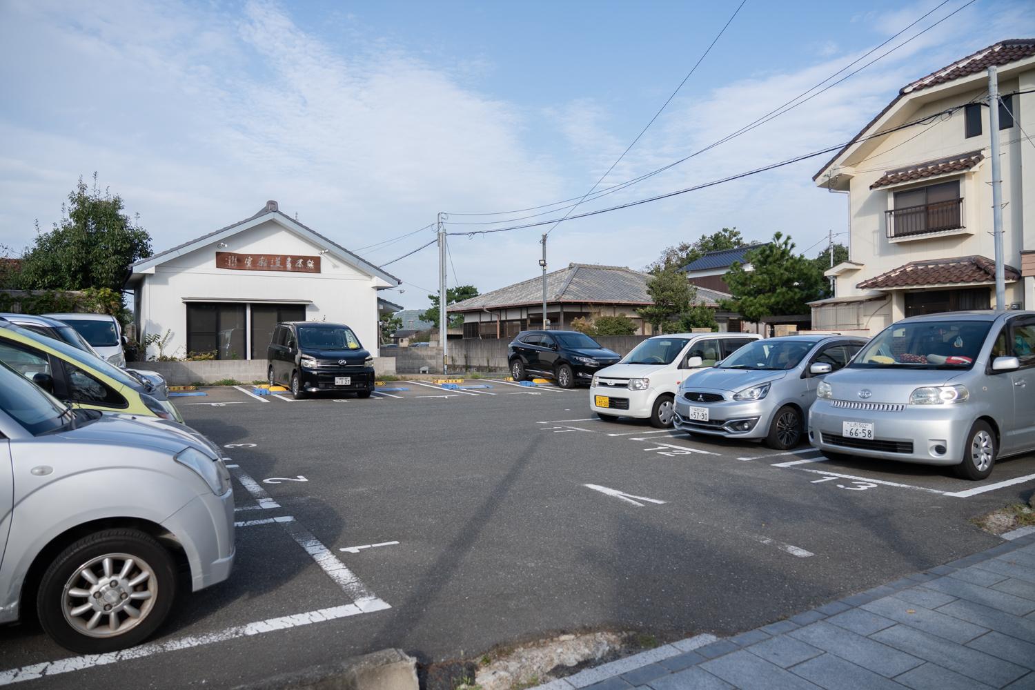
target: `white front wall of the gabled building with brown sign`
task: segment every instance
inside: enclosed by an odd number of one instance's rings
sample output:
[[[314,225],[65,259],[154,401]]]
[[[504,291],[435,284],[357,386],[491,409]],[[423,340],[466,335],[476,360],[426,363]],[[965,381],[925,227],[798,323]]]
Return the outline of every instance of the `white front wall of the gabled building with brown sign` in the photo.
[[[343,261],[324,254],[320,273],[234,271],[215,267],[215,252],[318,256],[323,246],[295,235],[275,220],[170,259],[146,275],[141,287],[140,324],[144,333],[172,332],[166,354],[186,352],[184,298],[249,300],[309,300],[305,318],[350,326],[360,342],[378,355],[378,306],[375,278]],[[151,354],[155,354],[152,349]],[[247,353],[249,354],[249,353]],[[243,355],[243,354],[242,354]],[[265,356],[265,355],[264,355]]]

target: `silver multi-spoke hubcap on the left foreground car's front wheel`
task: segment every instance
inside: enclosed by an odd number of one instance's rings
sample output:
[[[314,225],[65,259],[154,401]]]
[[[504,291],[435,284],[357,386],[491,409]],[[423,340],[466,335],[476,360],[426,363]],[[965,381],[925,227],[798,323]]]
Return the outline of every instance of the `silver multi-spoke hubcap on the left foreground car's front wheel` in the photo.
[[[92,559],[72,573],[61,595],[65,621],[88,637],[114,637],[136,628],[154,607],[157,578],[128,553]]]

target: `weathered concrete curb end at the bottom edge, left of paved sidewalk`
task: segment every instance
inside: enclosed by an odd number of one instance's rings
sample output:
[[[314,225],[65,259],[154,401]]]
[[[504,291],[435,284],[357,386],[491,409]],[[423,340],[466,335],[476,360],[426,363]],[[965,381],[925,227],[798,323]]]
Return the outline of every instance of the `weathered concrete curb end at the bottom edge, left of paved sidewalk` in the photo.
[[[274,676],[234,690],[418,690],[417,660],[382,650],[333,664]]]

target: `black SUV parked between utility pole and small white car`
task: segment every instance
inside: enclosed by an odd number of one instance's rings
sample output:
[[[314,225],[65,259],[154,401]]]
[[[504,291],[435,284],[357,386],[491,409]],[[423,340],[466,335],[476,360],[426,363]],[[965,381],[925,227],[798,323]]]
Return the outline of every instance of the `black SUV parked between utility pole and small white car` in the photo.
[[[507,348],[514,381],[529,373],[549,377],[561,388],[589,383],[601,367],[621,357],[579,331],[522,331]]]

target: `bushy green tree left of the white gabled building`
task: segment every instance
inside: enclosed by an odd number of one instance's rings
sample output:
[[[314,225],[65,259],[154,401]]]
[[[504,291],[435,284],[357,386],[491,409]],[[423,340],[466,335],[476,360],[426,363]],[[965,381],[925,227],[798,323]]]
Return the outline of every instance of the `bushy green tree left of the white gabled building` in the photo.
[[[122,199],[87,187],[83,178],[61,205],[61,222],[49,233],[39,232],[22,258],[19,283],[26,290],[83,290],[108,288],[121,291],[129,266],[151,256],[151,236],[139,217],[123,213]]]

